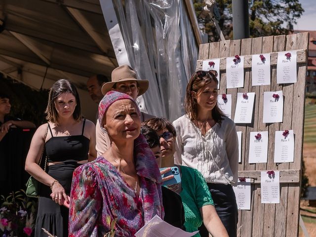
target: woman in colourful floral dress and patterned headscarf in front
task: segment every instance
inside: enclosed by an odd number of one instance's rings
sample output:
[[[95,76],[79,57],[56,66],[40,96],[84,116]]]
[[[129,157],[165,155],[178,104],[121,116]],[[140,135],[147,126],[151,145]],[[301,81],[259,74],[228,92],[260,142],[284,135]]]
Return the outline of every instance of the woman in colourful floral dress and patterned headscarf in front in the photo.
[[[99,104],[99,122],[111,147],[74,171],[69,212],[70,237],[131,237],[155,215],[163,219],[161,176],[146,139],[140,134],[135,100],[108,92]]]

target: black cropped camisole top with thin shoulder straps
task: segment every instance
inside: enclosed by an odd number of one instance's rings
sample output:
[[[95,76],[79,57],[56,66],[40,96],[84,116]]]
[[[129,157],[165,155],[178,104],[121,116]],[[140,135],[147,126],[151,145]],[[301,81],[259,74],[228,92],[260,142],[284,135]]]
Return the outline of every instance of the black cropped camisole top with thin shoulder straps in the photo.
[[[47,162],[88,159],[90,139],[83,136],[85,119],[83,120],[81,135],[54,137],[48,128],[51,138],[45,143]]]

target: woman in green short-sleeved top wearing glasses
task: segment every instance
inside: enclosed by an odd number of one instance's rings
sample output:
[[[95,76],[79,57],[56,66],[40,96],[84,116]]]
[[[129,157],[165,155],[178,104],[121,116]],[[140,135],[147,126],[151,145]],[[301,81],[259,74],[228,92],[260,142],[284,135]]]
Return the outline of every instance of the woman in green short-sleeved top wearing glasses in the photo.
[[[175,166],[176,131],[166,118],[151,118],[142,124],[156,130],[160,141],[161,167]],[[182,198],[185,211],[186,231],[194,232],[204,223],[207,231],[213,237],[228,237],[223,223],[219,219],[207,184],[197,169],[177,165],[181,174],[181,183],[170,188]],[[200,237],[199,234],[195,237]]]

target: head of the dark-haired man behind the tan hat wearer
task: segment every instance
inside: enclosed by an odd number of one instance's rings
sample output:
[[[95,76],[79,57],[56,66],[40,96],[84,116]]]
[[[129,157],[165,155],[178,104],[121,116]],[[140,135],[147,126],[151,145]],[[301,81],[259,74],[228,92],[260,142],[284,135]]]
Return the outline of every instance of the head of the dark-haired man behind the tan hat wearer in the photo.
[[[91,99],[99,105],[100,101],[103,98],[102,94],[102,85],[110,80],[101,74],[94,75],[90,77],[87,81],[87,89]]]

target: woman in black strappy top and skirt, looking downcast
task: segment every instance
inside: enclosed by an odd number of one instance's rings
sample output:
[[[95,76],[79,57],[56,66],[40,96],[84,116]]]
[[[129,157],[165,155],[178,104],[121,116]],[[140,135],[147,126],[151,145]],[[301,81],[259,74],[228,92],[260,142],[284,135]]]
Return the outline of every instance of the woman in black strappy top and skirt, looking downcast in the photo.
[[[25,162],[25,170],[42,183],[35,237],[46,235],[41,228],[68,237],[69,209],[62,204],[69,203],[74,169],[96,157],[95,126],[81,117],[77,89],[66,79],[51,87],[45,113],[48,122],[35,132]],[[38,165],[43,149],[45,171]]]

